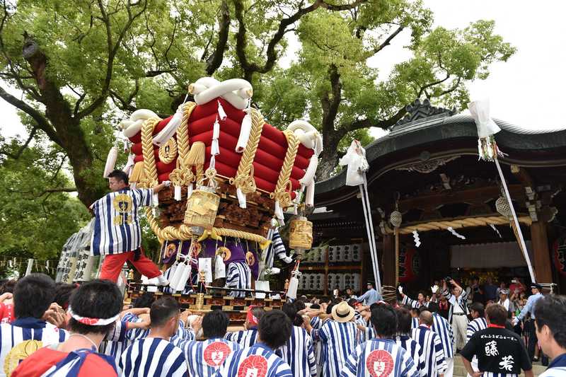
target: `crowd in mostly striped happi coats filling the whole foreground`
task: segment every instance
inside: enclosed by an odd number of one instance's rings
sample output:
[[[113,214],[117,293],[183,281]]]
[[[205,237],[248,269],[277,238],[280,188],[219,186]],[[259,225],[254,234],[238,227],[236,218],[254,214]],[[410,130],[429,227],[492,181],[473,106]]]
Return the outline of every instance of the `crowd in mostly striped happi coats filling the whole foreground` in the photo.
[[[192,314],[171,296],[124,306],[108,280],[79,286],[30,274],[1,286],[0,377],[450,377],[458,353],[469,376],[529,377],[538,344],[552,359],[542,376],[566,376],[564,296],[532,284],[515,312],[507,288],[485,303],[468,298],[487,290],[470,288],[444,279],[415,299],[399,289],[389,303],[371,284],[360,297],[302,296],[280,310],[250,306],[243,330],[229,332],[226,313]],[[533,325],[533,349],[521,323]]]

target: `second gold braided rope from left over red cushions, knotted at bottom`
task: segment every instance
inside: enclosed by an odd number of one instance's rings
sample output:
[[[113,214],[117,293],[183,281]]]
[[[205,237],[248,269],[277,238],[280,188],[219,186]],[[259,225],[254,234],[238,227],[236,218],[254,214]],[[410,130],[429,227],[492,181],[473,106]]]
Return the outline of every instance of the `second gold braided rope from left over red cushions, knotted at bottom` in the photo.
[[[177,149],[179,157],[177,159],[177,167],[169,174],[169,179],[175,186],[186,186],[195,180],[195,175],[192,169],[188,168],[187,156],[189,156],[189,117],[192,110],[195,110],[197,104],[194,102],[187,102],[183,105],[183,119],[177,129]]]

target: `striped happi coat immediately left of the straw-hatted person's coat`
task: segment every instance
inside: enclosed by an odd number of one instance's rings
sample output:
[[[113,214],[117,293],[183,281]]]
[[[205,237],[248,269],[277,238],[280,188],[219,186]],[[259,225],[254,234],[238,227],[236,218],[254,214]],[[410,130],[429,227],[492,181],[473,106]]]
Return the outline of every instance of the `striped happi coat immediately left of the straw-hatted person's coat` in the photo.
[[[275,354],[291,366],[294,377],[316,376],[313,340],[303,327],[293,326],[291,337]]]

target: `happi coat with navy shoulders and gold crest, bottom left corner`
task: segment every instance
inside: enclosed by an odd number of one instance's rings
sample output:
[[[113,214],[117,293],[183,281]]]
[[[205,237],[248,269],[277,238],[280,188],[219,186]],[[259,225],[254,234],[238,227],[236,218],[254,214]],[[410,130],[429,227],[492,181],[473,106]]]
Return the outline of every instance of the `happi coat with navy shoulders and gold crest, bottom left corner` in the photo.
[[[67,340],[69,333],[55,327],[51,323],[37,318],[18,318],[13,323],[0,324],[0,377],[6,376],[4,373],[6,359],[8,364],[13,363],[13,368],[22,360],[19,359],[18,344],[23,342],[28,344],[28,349],[45,347],[50,344],[62,343]],[[13,352],[11,352],[13,349]]]

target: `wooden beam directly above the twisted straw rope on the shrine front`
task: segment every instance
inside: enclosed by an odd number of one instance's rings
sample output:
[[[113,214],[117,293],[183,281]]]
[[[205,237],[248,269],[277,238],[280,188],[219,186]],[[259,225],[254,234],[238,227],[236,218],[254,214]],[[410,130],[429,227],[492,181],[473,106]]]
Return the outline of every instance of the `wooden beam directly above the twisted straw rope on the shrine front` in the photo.
[[[509,194],[512,199],[519,202],[525,201],[525,191],[523,185],[509,185]],[[479,201],[489,202],[501,195],[499,186],[478,187],[468,190],[458,190],[449,192],[439,192],[431,195],[421,195],[403,199],[399,202],[400,211],[405,212],[410,209],[438,208],[444,204],[456,203],[477,203]]]

